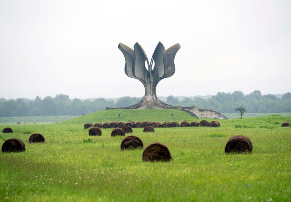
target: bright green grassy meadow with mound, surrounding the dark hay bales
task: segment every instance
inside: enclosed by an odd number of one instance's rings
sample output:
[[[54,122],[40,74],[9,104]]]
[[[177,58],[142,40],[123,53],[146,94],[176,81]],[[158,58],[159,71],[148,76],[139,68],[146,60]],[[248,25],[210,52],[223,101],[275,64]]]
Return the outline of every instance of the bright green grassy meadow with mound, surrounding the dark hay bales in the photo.
[[[120,114],[120,117],[118,116]],[[173,116],[171,116],[173,114]],[[0,123],[1,145],[19,138],[26,151],[0,153],[0,201],[290,201],[291,116],[218,120],[219,128],[133,128],[144,147],[165,144],[170,162],[143,162],[143,149],[121,150],[124,137],[89,136],[87,122],[198,119],[179,110],[104,110],[58,123]],[[203,118],[212,121],[217,119]],[[33,133],[45,143],[28,143]],[[234,135],[251,154],[225,154]]]

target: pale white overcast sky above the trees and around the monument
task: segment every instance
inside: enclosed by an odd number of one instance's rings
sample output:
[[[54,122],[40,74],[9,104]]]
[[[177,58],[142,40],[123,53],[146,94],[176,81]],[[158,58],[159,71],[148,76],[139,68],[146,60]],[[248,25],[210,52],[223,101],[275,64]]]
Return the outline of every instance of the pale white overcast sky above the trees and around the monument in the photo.
[[[121,42],[180,43],[157,96],[291,91],[291,1],[0,0],[0,97],[144,95]]]

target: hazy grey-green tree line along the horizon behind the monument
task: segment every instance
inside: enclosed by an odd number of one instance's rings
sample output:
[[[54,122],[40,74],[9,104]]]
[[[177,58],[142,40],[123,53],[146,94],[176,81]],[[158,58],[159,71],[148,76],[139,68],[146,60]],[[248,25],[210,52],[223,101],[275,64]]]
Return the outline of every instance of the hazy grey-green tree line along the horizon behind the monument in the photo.
[[[141,101],[142,97],[121,97],[113,99],[97,98],[94,100],[70,99],[66,94],[58,94],[55,97],[36,96],[34,100],[18,98],[16,100],[0,98],[0,117],[21,116],[53,116],[71,115],[78,116],[104,110],[106,107],[118,108],[134,105]],[[243,107],[247,113],[283,113],[291,112],[291,93],[287,92],[281,98],[273,94],[262,95],[259,90],[244,95],[242,91],[233,93],[218,92],[208,99],[200,97],[185,97],[179,101],[177,97],[168,96],[165,103],[173,106],[209,109],[220,113],[236,113],[236,107]]]

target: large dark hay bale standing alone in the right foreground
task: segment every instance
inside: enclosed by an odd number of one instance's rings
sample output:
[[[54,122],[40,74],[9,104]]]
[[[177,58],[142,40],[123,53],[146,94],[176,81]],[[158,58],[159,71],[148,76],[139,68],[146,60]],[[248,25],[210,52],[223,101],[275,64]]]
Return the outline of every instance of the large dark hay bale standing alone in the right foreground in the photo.
[[[251,140],[243,135],[236,135],[231,137],[225,146],[225,153],[251,153],[253,150],[253,145]]]

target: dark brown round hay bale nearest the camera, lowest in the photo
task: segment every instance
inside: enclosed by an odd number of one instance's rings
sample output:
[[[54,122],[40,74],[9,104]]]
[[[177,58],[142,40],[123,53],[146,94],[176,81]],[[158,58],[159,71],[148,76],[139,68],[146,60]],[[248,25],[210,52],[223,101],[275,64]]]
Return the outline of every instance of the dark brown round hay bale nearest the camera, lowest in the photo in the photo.
[[[143,150],[143,161],[171,161],[171,153],[166,145],[158,142],[149,144]]]

